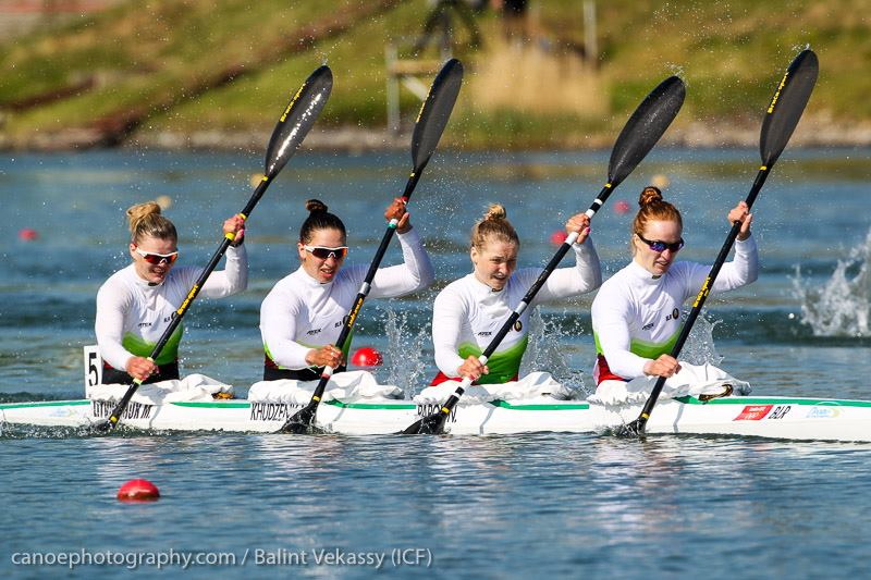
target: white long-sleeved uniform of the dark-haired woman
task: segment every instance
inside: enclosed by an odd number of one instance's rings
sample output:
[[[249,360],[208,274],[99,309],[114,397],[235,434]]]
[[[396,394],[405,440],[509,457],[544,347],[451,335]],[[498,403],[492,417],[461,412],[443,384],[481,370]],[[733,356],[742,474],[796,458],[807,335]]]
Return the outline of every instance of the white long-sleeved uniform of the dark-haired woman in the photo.
[[[396,234],[404,263],[381,268],[372,280],[371,298],[391,298],[425,288],[434,277],[417,231]],[[335,344],[345,316],[357,297],[368,266],[346,266],[321,284],[303,269],[280,280],[260,306],[260,333],[266,350],[263,380],[316,380],[320,373],[306,361],[312,348]],[[345,360],[351,340],[345,341]],[[344,367],[336,369],[342,372]]]

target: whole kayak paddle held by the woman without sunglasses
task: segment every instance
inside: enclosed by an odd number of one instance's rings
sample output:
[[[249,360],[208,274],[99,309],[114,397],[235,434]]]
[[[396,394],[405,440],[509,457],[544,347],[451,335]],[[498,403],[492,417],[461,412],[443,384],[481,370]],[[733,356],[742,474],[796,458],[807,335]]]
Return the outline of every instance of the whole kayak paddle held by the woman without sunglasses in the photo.
[[[670,76],[660,83],[659,86],[641,101],[641,104],[638,106],[638,109],[635,110],[629,121],[626,122],[626,126],[623,127],[623,131],[617,137],[617,141],[614,144],[614,149],[611,151],[611,160],[608,165],[608,183],[605,183],[602,190],[599,192],[590,209],[586,212],[590,219],[592,219],[596,212],[599,211],[599,208],[604,205],[611,192],[635,170],[657,141],[660,140],[660,137],[662,137],[665,129],[668,128],[668,125],[672,124],[672,121],[674,121],[674,118],[677,115],[677,111],[680,110],[685,96],[686,87],[684,86],[684,82],[676,76]],[[560,264],[560,260],[563,259],[577,238],[577,232],[573,232],[565,242],[563,242],[560,249],[556,250],[556,254],[544,268],[544,271],[541,272],[523,300],[520,300],[520,304],[517,305],[517,308],[514,309],[505,323],[502,324],[502,328],[495,336],[493,336],[492,341],[490,341],[490,344],[481,356],[478,357],[481,365],[487,365],[487,360],[492,356],[496,347],[499,347],[499,344],[508,331],[511,331],[517,319],[520,318],[524,310],[531,304],[538,291],[541,289],[541,286],[544,285],[544,282],[547,282],[548,277],[556,269]],[[459,386],[456,387],[456,391],[454,391],[438,411],[415,421],[405,429],[403,433],[407,435],[443,433],[447,417],[454,410],[463,393],[466,392],[466,388],[468,388],[470,384],[471,379],[464,378]]]

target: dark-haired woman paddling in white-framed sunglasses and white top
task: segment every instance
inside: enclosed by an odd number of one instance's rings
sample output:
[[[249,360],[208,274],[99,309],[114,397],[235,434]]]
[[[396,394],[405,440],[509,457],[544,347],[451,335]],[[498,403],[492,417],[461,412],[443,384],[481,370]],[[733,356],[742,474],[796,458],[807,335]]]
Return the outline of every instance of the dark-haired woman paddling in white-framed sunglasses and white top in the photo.
[[[344,223],[317,199],[309,199],[306,209],[309,214],[296,244],[299,268],[280,280],[260,306],[265,381],[314,381],[320,378],[318,369],[326,366],[342,372],[351,348],[349,340],[344,351],[335,341],[369,267],[343,268],[347,256]],[[394,199],[384,218],[400,220],[396,237],[404,263],[378,269],[369,297],[403,296],[429,286],[432,263],[403,200]]]

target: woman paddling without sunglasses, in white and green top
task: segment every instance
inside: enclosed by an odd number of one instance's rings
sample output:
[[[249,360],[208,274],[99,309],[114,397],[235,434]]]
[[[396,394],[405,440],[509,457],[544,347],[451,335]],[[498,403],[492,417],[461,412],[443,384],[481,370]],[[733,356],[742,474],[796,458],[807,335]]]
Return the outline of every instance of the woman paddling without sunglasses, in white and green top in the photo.
[[[585,213],[573,215],[565,230],[569,234],[578,232],[573,246],[575,266],[554,270],[530,308],[520,314],[483,366],[478,357],[543,271],[542,268],[515,271],[520,249],[517,232],[506,219],[505,208],[499,203],[490,206],[471,230],[469,256],[473,272],[449,284],[436,298],[432,343],[440,372],[430,384],[461,377],[476,383],[517,380],[529,340],[531,307],[599,287],[602,273],[599,256],[589,237],[589,218]]]

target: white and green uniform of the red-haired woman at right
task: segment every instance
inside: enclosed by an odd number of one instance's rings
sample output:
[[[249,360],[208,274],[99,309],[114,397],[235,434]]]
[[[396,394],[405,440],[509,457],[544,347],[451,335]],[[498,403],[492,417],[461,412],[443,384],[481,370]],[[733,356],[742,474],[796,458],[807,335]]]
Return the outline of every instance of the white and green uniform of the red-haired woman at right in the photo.
[[[654,276],[633,260],[605,281],[592,303],[596,384],[642,377],[648,360],[668,354],[683,326],[680,307],[699,293],[710,271],[710,266],[679,261]],[[711,292],[749,284],[758,271],[753,236],[738,239],[734,260],[723,264]]]

